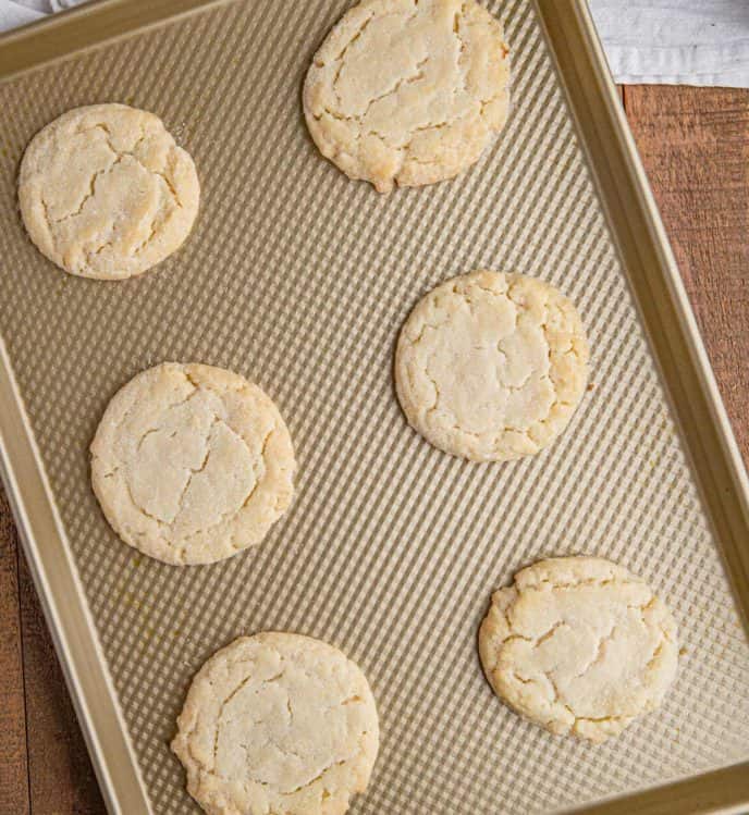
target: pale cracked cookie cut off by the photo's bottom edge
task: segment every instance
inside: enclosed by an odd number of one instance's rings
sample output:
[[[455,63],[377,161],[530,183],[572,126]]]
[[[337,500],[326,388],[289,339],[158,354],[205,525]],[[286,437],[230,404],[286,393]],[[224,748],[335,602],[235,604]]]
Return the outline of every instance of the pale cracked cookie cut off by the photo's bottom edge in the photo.
[[[198,671],[172,750],[209,815],[341,815],[377,758],[361,670],[299,634],[243,637]]]

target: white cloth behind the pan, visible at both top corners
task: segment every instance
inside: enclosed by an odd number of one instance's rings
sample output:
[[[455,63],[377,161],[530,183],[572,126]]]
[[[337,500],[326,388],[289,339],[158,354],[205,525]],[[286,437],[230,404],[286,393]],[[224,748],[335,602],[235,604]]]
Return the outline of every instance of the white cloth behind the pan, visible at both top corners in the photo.
[[[85,0],[0,0],[0,30]],[[589,0],[619,83],[749,87],[749,0]]]

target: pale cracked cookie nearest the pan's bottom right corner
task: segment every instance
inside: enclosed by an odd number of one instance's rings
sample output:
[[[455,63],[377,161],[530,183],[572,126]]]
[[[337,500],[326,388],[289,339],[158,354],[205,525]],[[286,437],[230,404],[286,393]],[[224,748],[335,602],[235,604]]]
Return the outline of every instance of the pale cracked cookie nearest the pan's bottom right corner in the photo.
[[[676,622],[648,584],[595,557],[541,560],[500,589],[479,630],[496,694],[553,733],[602,742],[676,678]]]

